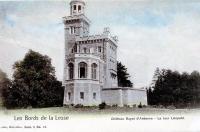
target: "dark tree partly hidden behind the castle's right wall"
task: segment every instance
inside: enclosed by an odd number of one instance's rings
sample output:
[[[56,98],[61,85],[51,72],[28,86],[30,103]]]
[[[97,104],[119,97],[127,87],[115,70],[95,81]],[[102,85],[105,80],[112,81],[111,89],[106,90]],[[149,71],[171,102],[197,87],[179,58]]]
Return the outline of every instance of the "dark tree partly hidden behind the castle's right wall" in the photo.
[[[130,75],[127,73],[127,68],[121,62],[117,62],[117,78],[118,78],[118,86],[120,87],[133,86],[133,83],[129,80]]]

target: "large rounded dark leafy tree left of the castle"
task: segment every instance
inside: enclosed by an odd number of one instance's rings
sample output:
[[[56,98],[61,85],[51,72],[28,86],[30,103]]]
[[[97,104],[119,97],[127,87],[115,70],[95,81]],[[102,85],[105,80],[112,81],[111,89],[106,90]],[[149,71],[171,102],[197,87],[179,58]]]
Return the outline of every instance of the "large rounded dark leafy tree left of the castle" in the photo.
[[[64,88],[55,77],[51,59],[30,50],[22,61],[13,66],[12,88],[6,107],[52,107],[63,104]]]

